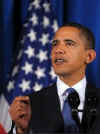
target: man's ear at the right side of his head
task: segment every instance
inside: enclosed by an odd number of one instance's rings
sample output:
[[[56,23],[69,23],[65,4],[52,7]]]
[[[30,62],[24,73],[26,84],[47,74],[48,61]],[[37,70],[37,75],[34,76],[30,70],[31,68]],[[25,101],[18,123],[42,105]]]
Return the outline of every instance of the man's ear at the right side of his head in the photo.
[[[96,51],[94,49],[88,49],[86,51],[86,64],[89,64],[96,58]]]

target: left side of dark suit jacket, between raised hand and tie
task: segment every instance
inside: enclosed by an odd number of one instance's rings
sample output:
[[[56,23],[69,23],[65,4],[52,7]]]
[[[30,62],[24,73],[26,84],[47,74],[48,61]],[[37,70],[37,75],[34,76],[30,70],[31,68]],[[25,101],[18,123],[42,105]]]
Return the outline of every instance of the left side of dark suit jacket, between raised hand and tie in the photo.
[[[63,118],[56,85],[33,94],[31,100],[33,132],[63,132]]]

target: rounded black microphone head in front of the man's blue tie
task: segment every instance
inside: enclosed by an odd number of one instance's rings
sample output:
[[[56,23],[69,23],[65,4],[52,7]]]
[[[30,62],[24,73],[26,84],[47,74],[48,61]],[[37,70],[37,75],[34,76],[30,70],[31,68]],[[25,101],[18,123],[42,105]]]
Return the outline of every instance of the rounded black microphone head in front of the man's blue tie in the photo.
[[[72,109],[77,109],[80,104],[80,99],[78,93],[72,92],[68,95],[68,103],[70,104]]]

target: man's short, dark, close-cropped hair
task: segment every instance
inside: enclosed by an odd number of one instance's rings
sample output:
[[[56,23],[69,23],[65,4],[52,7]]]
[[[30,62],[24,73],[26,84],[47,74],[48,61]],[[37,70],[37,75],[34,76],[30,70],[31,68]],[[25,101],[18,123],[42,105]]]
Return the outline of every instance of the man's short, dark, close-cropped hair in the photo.
[[[82,24],[75,23],[75,22],[70,22],[67,24],[64,24],[62,27],[75,27],[80,30],[80,34],[85,38],[86,40],[86,47],[95,49],[95,38],[92,33],[92,31],[87,28],[86,26],[83,26]]]

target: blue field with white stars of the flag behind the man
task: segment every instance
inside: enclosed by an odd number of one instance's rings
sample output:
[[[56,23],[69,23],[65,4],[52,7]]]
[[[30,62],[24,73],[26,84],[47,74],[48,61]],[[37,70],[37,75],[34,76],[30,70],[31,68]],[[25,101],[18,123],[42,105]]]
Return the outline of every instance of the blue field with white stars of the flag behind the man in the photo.
[[[51,41],[58,23],[49,0],[32,0],[23,25],[20,50],[5,91],[9,103],[15,96],[39,91],[55,82],[51,66]]]

